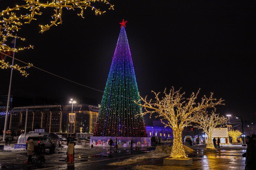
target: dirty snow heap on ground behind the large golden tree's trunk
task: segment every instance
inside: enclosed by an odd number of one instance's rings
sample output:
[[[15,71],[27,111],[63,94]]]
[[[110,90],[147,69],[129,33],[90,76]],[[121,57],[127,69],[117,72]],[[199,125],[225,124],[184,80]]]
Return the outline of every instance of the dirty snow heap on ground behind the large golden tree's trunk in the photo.
[[[183,145],[183,148],[185,150],[185,153],[194,151],[193,149],[191,149],[185,145]],[[133,156],[130,159],[125,159],[120,162],[109,163],[108,165],[118,165],[118,166],[129,165],[129,164],[133,164],[136,162],[140,162],[145,159],[155,159],[155,158],[166,157],[166,156],[169,156],[171,152],[172,152],[172,146],[171,147],[169,147],[168,145],[157,146],[156,150],[145,153],[145,154],[143,154],[143,156],[141,156],[141,155]]]

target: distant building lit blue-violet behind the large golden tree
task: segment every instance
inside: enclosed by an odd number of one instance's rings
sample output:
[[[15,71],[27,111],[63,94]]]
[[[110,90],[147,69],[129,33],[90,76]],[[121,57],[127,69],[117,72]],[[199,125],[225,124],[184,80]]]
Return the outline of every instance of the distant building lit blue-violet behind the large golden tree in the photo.
[[[167,123],[167,121],[164,122]],[[148,137],[158,136],[162,138],[162,140],[166,140],[167,138],[173,139],[173,129],[169,126],[164,127],[161,121],[153,121],[152,126],[146,126],[146,131]]]

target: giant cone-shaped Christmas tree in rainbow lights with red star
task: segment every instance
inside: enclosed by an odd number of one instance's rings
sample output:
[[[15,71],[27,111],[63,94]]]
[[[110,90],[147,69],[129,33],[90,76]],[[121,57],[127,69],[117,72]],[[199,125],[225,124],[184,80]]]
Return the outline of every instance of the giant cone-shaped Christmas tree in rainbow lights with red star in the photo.
[[[147,137],[125,23],[122,21],[115,53],[93,136]]]

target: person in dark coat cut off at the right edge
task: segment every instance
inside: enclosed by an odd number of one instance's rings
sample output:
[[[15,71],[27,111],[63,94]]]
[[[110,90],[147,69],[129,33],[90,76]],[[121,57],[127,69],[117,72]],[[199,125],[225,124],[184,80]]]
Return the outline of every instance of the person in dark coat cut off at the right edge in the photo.
[[[245,170],[255,169],[256,142],[250,136],[245,136],[244,141],[247,144]]]

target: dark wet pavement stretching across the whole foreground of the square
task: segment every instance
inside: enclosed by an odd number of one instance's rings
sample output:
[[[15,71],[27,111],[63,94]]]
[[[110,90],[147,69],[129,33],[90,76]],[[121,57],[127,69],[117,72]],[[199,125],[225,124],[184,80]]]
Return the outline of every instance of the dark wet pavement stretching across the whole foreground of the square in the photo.
[[[165,165],[163,158],[147,159],[130,165],[112,166],[108,165],[112,162],[131,159],[132,156],[147,153],[154,150],[155,147],[144,148],[131,152],[128,148],[110,151],[109,148],[90,148],[88,145],[78,145],[75,148],[74,164],[67,164],[66,148],[63,150],[56,149],[50,154],[46,152],[46,163],[27,164],[27,153],[23,152],[0,152],[0,169],[244,169],[245,159],[242,153],[245,150],[223,150],[219,149],[216,153],[203,153],[202,148],[193,148],[195,151],[188,154],[189,158],[193,158],[193,164],[181,165]],[[35,157],[35,155],[34,155]]]

